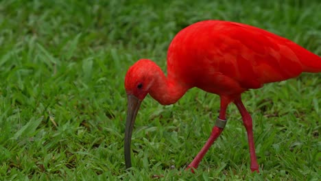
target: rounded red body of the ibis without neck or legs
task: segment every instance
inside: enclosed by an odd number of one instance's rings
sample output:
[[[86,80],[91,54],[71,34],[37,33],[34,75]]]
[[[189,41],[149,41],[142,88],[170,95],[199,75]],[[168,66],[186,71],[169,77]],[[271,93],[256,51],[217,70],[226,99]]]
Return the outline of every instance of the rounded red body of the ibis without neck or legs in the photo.
[[[281,36],[228,21],[201,21],[182,29],[167,54],[169,77],[200,88],[209,82],[259,88],[302,71],[321,72],[321,58]]]

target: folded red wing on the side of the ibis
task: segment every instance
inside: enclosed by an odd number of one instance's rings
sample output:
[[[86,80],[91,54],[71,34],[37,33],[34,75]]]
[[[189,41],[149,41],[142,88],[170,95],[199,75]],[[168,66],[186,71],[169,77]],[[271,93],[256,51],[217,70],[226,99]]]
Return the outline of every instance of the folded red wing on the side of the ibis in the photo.
[[[230,23],[217,38],[216,53],[222,56],[219,71],[244,88],[298,76],[302,73],[298,52],[309,53],[286,38],[239,23]]]

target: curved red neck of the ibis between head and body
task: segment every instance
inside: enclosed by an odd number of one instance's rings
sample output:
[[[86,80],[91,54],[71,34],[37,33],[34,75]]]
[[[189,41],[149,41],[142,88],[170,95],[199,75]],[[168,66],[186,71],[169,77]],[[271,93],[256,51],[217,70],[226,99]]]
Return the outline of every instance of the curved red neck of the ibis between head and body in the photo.
[[[186,85],[171,77],[166,77],[158,67],[154,73],[154,84],[150,88],[150,95],[160,104],[174,104],[189,89]]]

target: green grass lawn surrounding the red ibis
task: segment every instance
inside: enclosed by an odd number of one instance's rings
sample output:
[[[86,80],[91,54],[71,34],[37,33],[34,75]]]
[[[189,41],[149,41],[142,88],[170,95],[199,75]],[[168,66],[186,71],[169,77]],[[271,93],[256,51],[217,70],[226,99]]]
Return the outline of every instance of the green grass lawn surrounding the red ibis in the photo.
[[[318,0],[0,1],[0,180],[319,180],[320,73],[243,95],[261,173],[250,172],[235,106],[196,173],[184,171],[219,109],[197,89],[171,106],[143,101],[126,171],[123,78],[139,58],[165,70],[171,38],[204,19],[268,29],[321,55],[320,9]]]

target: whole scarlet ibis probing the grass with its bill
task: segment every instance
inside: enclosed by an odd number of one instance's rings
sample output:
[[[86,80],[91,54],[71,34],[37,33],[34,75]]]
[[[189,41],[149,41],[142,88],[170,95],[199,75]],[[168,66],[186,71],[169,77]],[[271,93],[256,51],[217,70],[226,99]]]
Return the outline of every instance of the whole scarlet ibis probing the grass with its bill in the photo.
[[[287,80],[302,72],[321,72],[321,58],[281,36],[229,21],[200,21],[182,29],[169,45],[167,77],[147,59],[136,62],[125,77],[128,95],[124,153],[131,167],[132,128],[141,101],[149,93],[160,104],[174,104],[187,90],[198,87],[219,95],[219,116],[209,140],[188,168],[196,169],[226,125],[226,108],[234,103],[243,119],[250,146],[250,169],[259,172],[252,118],[241,93],[263,84]],[[193,170],[192,170],[193,171]]]

